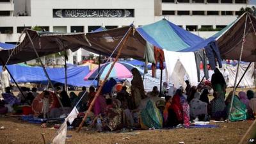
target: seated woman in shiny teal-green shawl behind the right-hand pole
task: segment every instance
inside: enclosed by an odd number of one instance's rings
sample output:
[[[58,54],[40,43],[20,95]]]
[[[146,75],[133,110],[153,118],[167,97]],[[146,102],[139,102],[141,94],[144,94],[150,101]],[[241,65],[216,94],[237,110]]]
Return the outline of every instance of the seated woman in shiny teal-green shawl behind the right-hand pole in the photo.
[[[248,118],[246,105],[239,100],[239,97],[237,97],[237,95],[234,95],[234,100],[230,113],[232,94],[233,92],[231,91],[226,99],[227,113],[228,115],[230,115],[230,121],[246,120]]]

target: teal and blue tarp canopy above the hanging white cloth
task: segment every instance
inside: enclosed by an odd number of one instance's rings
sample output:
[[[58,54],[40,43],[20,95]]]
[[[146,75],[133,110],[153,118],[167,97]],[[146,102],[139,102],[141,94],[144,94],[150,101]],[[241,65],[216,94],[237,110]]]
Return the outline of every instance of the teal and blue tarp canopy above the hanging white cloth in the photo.
[[[196,36],[166,19],[141,26],[137,28],[137,31],[150,44],[166,49],[166,51],[180,51],[204,41],[200,36]]]

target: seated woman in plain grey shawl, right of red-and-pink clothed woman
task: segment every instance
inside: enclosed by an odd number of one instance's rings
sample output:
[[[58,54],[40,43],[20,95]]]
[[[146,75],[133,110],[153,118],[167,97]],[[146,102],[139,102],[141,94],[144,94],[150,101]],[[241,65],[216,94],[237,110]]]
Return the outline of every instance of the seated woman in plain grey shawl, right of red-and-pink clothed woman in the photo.
[[[202,102],[201,100],[199,100],[199,98],[200,98],[200,92],[196,92],[194,99],[192,99],[191,102],[189,102],[190,115],[192,116],[193,119],[195,119],[198,116],[205,117],[208,114],[207,103]]]

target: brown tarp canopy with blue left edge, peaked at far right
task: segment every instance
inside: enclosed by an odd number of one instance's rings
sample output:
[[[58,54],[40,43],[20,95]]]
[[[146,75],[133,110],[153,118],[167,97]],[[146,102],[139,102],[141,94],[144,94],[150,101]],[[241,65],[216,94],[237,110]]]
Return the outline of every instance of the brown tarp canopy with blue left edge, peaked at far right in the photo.
[[[189,49],[182,50],[182,52],[198,51],[199,49],[203,49],[212,40],[216,40],[220,49],[221,58],[225,60],[239,60],[245,23],[246,33],[241,60],[254,62],[256,60],[256,18],[250,13],[244,13],[241,15],[241,17],[239,17],[239,19],[229,24],[220,32],[216,33],[210,38],[207,38],[207,40],[195,45],[194,47],[189,47]]]

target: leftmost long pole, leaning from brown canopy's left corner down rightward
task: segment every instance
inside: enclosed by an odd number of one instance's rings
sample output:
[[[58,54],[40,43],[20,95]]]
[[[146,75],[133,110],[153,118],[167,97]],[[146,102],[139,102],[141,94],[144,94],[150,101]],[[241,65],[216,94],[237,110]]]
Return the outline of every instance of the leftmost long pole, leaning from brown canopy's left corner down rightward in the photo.
[[[49,77],[47,71],[45,70],[44,64],[43,64],[42,60],[40,59],[40,57],[39,57],[39,55],[38,55],[38,53],[37,53],[37,51],[36,51],[35,45],[34,45],[32,39],[31,39],[31,37],[30,37],[28,31],[26,31],[26,34],[28,35],[29,41],[31,42],[31,45],[32,45],[32,47],[33,47],[33,49],[34,49],[34,51],[35,51],[35,54],[36,54],[36,56],[37,56],[38,61],[40,61],[40,64],[42,65],[42,68],[43,68],[43,70],[44,70],[45,76],[47,77],[49,83],[51,84],[52,90],[54,90],[54,86],[53,86],[53,84],[52,84],[52,81],[51,81],[51,79],[50,79],[50,77]],[[60,102],[60,106],[61,106],[62,110],[64,111],[64,107],[63,107],[63,104],[62,104],[62,102],[61,102],[61,100],[60,100],[60,97],[58,97],[58,94],[56,93],[55,90],[54,90],[54,93],[56,94],[56,97],[58,98],[58,101]]]

